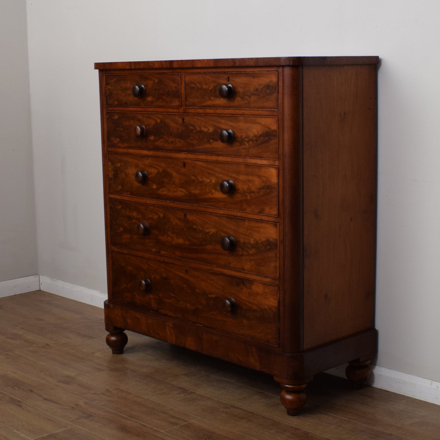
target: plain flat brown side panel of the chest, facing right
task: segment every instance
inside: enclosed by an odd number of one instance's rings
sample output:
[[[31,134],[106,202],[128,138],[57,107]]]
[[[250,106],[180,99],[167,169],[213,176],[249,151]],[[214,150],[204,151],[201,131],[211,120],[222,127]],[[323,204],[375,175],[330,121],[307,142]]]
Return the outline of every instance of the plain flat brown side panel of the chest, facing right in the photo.
[[[311,348],[374,326],[376,68],[307,67],[303,84],[304,348]]]

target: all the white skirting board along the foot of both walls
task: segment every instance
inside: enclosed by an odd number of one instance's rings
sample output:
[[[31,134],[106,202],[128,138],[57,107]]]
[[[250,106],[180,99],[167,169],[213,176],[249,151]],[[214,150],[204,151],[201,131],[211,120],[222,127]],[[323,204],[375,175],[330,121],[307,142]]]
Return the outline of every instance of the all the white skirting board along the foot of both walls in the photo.
[[[59,281],[43,275],[33,275],[26,278],[0,282],[0,297],[40,289],[101,308],[104,307],[103,303],[107,299],[107,295],[104,292],[77,286],[69,282]],[[346,366],[347,364],[331,368],[327,370],[326,373],[345,378]],[[372,367],[372,369],[373,374],[371,375],[370,385],[440,405],[440,382],[419,378],[418,376],[401,373],[400,371],[390,370],[389,368],[379,367],[377,365]]]

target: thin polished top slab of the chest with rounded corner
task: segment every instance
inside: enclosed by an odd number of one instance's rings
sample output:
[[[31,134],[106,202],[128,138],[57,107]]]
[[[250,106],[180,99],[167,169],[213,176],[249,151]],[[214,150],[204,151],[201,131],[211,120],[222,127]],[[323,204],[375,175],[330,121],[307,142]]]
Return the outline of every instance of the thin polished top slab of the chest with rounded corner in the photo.
[[[255,66],[329,66],[353,64],[379,64],[378,56],[321,56],[321,57],[272,57],[184,59],[174,61],[95,62],[95,69],[191,69],[205,67],[255,67]]]

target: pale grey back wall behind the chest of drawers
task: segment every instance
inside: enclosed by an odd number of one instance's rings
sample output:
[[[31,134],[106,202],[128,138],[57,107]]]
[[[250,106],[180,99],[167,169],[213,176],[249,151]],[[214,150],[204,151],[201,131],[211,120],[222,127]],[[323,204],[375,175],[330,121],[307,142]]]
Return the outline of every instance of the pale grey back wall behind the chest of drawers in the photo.
[[[28,0],[27,14],[40,274],[101,291],[93,62],[380,55],[377,363],[440,381],[438,1]]]

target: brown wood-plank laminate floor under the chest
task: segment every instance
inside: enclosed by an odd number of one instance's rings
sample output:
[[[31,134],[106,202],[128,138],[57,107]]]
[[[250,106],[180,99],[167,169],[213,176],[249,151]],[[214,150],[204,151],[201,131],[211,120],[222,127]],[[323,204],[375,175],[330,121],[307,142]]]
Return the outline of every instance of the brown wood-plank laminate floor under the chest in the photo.
[[[0,439],[440,439],[440,406],[328,374],[290,417],[267,374],[128,333],[41,291],[0,298]]]

